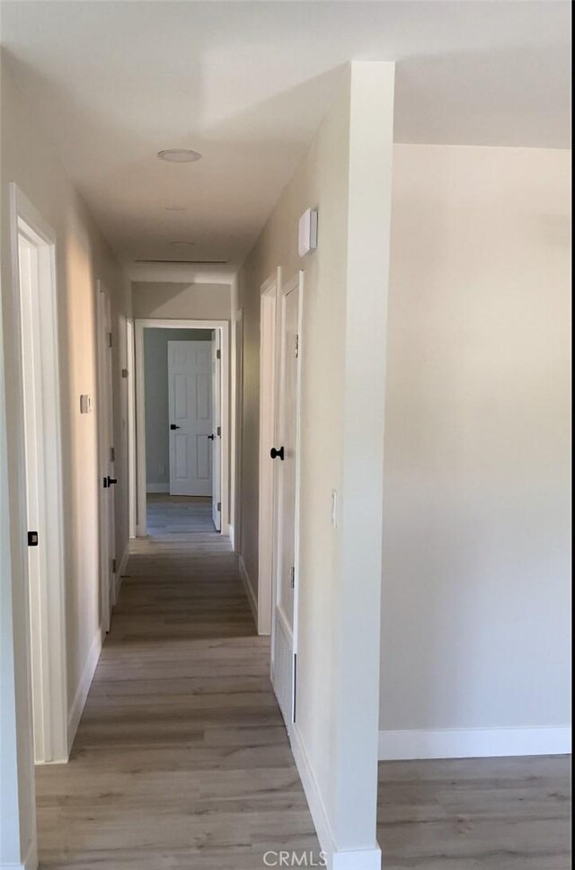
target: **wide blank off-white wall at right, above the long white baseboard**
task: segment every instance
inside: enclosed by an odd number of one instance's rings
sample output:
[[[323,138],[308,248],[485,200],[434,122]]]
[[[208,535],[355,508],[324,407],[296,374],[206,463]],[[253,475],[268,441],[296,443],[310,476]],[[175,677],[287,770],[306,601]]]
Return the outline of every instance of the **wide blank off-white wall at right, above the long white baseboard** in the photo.
[[[570,163],[394,149],[387,732],[570,722]]]

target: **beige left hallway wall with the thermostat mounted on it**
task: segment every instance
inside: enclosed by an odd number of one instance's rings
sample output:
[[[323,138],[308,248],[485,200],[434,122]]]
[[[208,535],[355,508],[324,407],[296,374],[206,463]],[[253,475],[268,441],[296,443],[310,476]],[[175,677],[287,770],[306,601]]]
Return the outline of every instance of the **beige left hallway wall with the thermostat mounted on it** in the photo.
[[[117,557],[128,543],[128,488],[126,444],[126,381],[119,369],[126,365],[125,321],[129,314],[129,285],[93,218],[70,182],[65,169],[40,127],[36,107],[14,81],[12,71],[2,68],[1,125],[1,215],[2,215],[2,304],[4,316],[4,386],[8,409],[8,460],[10,468],[9,510],[15,519],[20,510],[23,484],[17,477],[16,433],[11,409],[16,404],[12,285],[10,250],[9,182],[16,182],[57,234],[57,294],[59,347],[61,353],[61,409],[64,455],[64,518],[66,564],[66,644],[68,711],[72,722],[84,700],[86,680],[91,677],[100,639],[98,579],[98,495],[96,413],[80,414],[80,394],[96,394],[95,285],[101,279],[111,293],[114,333],[114,405],[116,423]],[[4,493],[3,493],[4,496]],[[16,525],[13,529],[15,532]],[[13,541],[14,555],[22,548]],[[22,564],[13,564],[14,634],[19,661],[27,661],[27,626]],[[23,672],[22,672],[23,677]],[[27,699],[21,699],[22,710]],[[22,731],[23,742],[28,733]],[[22,745],[23,750],[23,745]],[[30,796],[30,795],[29,795]],[[24,803],[26,798],[23,798]],[[25,813],[23,814],[25,816]],[[24,839],[31,831],[22,833]]]

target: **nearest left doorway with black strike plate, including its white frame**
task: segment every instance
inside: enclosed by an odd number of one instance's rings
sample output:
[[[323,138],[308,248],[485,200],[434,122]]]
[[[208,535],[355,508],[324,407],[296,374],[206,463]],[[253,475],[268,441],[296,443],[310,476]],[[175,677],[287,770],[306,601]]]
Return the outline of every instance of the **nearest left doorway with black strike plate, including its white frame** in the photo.
[[[34,760],[68,759],[56,235],[11,185],[22,564],[28,582]]]

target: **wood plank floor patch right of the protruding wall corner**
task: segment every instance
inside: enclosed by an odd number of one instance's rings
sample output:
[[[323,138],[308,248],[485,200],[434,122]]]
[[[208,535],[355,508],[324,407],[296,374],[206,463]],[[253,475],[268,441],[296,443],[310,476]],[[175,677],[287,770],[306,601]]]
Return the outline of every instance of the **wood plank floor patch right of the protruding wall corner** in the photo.
[[[571,758],[379,768],[385,870],[570,870]]]

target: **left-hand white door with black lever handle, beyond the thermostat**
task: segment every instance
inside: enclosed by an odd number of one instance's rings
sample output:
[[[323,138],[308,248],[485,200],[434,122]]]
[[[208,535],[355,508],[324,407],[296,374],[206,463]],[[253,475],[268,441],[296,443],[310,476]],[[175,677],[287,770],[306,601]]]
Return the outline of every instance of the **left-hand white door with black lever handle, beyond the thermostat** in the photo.
[[[115,599],[116,529],[114,521],[114,412],[112,393],[111,302],[98,282],[98,440],[100,457],[100,577],[102,588],[102,626],[110,631]],[[87,409],[84,409],[87,410]]]

